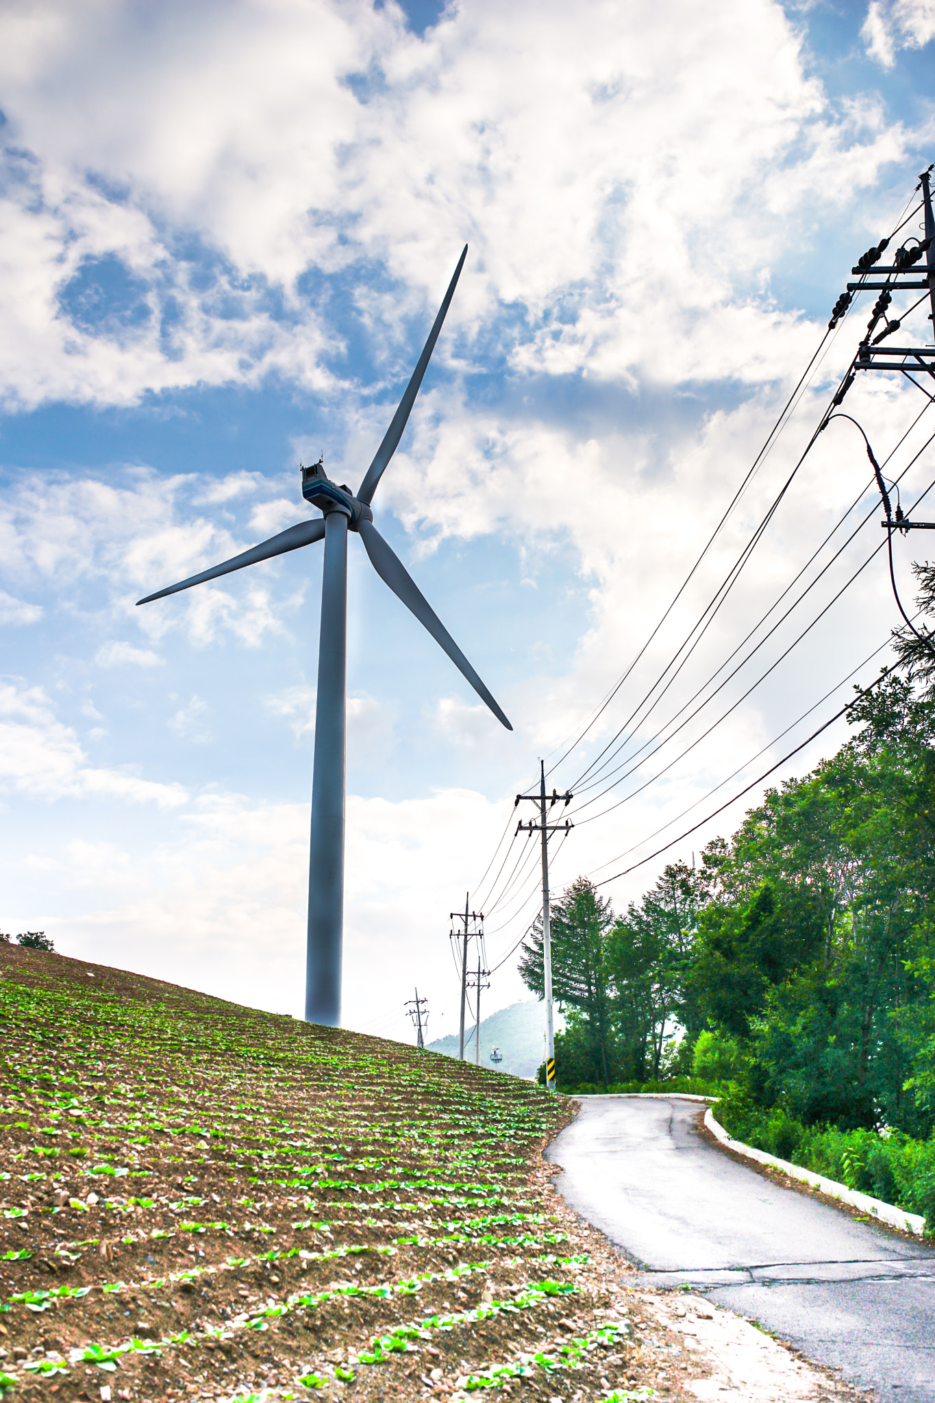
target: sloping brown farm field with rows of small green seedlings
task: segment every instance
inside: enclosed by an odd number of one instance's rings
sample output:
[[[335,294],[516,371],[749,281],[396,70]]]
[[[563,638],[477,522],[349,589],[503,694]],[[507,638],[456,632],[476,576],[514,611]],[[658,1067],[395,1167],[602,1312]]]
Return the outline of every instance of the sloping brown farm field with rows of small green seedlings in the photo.
[[[6,944],[0,1010],[4,1399],[699,1396],[564,1097]]]

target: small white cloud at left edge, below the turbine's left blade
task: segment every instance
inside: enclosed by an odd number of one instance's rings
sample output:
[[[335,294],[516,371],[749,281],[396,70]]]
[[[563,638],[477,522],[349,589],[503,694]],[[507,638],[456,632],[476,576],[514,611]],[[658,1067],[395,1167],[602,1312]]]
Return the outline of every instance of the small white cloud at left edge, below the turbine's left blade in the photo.
[[[188,803],[181,784],[142,779],[133,767],[102,769],[88,763],[71,727],[57,720],[42,687],[0,683],[0,784],[38,798],[64,796],[154,803]]]

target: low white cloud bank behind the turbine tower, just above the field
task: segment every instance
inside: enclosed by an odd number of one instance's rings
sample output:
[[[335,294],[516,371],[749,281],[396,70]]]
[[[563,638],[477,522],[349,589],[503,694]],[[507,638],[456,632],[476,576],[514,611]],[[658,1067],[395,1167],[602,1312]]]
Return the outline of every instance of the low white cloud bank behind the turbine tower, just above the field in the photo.
[[[387,803],[348,797],[345,1021],[360,1027],[398,1010],[416,978],[433,1030],[447,1006],[447,913],[479,877],[499,808],[471,790]],[[301,1013],[308,892],[308,805],[255,804],[237,794],[198,798],[143,849],[71,839],[18,873],[10,919],[42,913],[63,954],[171,978],[221,998]],[[67,892],[69,915],[46,919],[43,892]],[[509,947],[507,947],[509,948]],[[492,953],[500,953],[498,936]],[[514,975],[502,1002],[524,996]],[[425,985],[425,989],[422,986]],[[457,1013],[454,1014],[457,1017]],[[444,1031],[446,1024],[442,1024]],[[390,1030],[391,1031],[391,1030]]]

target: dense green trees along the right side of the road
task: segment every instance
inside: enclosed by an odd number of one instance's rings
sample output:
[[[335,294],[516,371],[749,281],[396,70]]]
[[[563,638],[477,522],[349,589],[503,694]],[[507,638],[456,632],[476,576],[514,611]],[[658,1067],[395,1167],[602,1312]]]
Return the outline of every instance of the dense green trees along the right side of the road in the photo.
[[[559,1087],[729,1079],[735,1117],[785,1117],[793,1139],[928,1139],[935,696],[890,672],[849,718],[837,755],[770,790],[698,867],[666,867],[622,916],[585,878],[557,904]],[[521,971],[541,993],[540,930]]]

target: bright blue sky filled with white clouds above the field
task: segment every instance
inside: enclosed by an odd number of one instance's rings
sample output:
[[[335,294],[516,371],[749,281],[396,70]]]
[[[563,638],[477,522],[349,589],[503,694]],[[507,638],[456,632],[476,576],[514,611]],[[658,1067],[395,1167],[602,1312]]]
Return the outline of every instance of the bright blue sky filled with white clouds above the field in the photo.
[[[580,796],[554,884],[600,880],[871,680],[896,612],[880,554],[848,585],[882,533],[847,424],[691,630],[854,354],[851,264],[920,233],[934,38],[932,0],[7,0],[0,929],[301,1012],[321,547],[135,602],[306,519],[300,460],[359,484],[464,243],[374,511],[514,731],[352,539],[345,1021],[408,1035],[418,984],[457,1028],[449,912],[498,965],[538,909],[538,756]],[[904,505],[927,403],[847,401]],[[523,993],[507,958],[486,1009]]]

